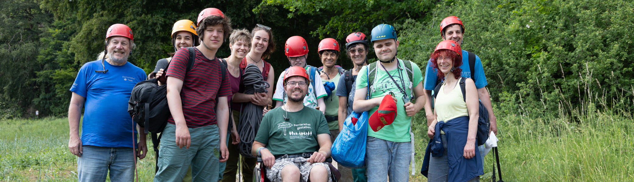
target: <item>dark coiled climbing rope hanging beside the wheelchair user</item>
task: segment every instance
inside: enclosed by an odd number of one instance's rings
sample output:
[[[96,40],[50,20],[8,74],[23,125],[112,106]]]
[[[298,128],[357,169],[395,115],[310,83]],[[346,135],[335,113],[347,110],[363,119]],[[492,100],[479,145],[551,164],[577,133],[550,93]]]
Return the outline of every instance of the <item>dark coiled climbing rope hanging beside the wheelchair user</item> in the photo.
[[[266,93],[270,85],[264,78],[262,72],[257,68],[256,64],[249,64],[245,68],[242,75],[242,84],[244,85],[244,94],[254,94],[256,92]],[[240,135],[240,143],[238,143],[238,151],[243,156],[252,158],[251,147],[253,140],[256,138],[257,129],[260,128],[262,122],[263,106],[257,106],[253,102],[245,103],[240,111],[240,124],[238,124],[238,134]]]

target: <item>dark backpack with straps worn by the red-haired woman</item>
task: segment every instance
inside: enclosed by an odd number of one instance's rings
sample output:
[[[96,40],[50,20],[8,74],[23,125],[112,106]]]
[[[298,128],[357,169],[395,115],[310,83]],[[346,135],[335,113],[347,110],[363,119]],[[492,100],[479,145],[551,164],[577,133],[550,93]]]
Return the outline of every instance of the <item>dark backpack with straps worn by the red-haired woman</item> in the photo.
[[[465,77],[460,77],[460,80],[458,80],[458,82],[460,82],[460,90],[462,90],[462,98],[463,100],[466,102],[467,98],[465,97],[466,92],[465,92],[465,80],[467,78]],[[438,85],[436,85],[436,88],[434,88],[434,99],[436,99],[436,96],[438,95],[438,92],[440,91],[440,87],[443,85],[443,82],[438,83]],[[455,88],[454,88],[455,89]],[[489,122],[489,111],[486,109],[486,107],[484,107],[484,104],[482,104],[482,101],[478,100],[479,102],[479,118],[477,119],[477,128],[475,131],[477,131],[475,133],[475,142],[477,143],[477,146],[480,145],[484,145],[484,143],[486,143],[486,140],[489,139],[489,126],[491,125],[491,123]]]

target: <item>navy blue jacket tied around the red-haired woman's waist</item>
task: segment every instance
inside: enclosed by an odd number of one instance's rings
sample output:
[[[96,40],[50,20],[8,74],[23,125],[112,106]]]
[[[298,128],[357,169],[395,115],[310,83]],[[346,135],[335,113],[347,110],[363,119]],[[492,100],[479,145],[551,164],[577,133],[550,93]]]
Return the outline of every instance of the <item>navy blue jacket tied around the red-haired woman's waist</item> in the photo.
[[[425,149],[425,159],[420,173],[427,177],[429,171],[429,157],[441,157],[443,155],[443,143],[440,138],[440,130],[443,130],[447,138],[447,160],[449,162],[449,175],[447,181],[469,181],[476,176],[484,174],[482,168],[482,157],[475,147],[475,157],[465,159],[463,157],[465,145],[467,145],[467,133],[469,132],[469,116],[461,116],[445,123],[438,121],[436,123],[436,135],[434,139],[429,140],[427,149]],[[475,144],[474,144],[475,145]]]

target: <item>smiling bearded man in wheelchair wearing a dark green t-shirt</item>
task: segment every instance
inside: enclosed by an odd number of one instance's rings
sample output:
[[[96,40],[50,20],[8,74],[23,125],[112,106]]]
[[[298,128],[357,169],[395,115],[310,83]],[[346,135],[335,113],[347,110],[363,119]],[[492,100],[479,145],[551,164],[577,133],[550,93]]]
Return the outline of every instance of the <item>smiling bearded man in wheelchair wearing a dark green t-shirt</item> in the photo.
[[[309,76],[304,68],[293,66],[286,71],[283,82],[288,101],[264,115],[252,154],[262,157],[266,178],[273,182],[332,181],[328,163],[324,162],[332,146],[326,118],[321,111],[303,104]]]

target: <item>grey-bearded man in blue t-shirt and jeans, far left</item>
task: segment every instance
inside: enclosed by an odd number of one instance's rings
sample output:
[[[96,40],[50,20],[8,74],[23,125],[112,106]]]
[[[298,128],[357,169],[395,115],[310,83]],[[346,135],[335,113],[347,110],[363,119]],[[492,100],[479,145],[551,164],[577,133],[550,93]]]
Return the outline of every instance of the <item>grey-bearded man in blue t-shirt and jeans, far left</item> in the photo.
[[[134,157],[143,159],[148,149],[145,135],[139,135],[137,143],[138,125],[127,112],[127,102],[134,85],[145,80],[145,71],[127,63],[136,47],[129,27],[110,26],[105,44],[107,56],[84,64],[70,87],[68,150],[78,157],[79,181],[106,181],[108,171],[111,181],[133,181]],[[86,108],[80,138],[83,106]]]

